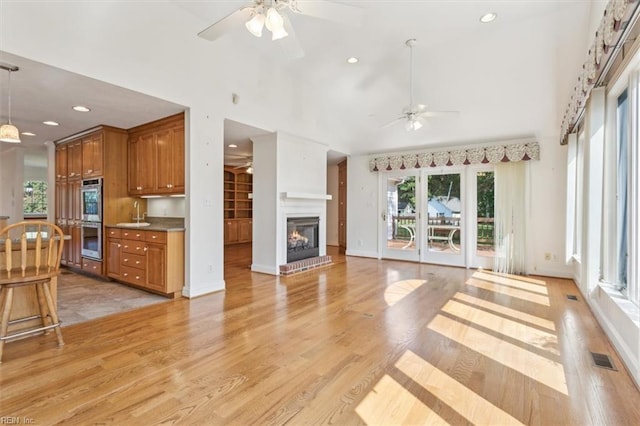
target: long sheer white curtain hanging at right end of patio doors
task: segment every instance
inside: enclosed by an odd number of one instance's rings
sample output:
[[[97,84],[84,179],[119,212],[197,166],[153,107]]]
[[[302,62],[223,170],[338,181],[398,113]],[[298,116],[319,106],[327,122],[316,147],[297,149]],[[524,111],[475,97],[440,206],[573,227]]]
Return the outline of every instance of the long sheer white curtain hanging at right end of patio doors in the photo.
[[[523,161],[496,165],[495,272],[526,274],[525,167]]]

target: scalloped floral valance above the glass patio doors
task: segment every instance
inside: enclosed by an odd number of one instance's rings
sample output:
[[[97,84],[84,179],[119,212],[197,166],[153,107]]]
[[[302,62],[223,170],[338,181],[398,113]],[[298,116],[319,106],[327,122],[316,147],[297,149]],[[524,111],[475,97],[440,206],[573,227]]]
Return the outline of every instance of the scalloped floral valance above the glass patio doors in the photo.
[[[387,155],[372,158],[372,172],[419,169],[422,167],[466,166],[471,164],[495,164],[509,161],[540,159],[538,142],[493,145],[446,151],[424,151],[410,154]]]

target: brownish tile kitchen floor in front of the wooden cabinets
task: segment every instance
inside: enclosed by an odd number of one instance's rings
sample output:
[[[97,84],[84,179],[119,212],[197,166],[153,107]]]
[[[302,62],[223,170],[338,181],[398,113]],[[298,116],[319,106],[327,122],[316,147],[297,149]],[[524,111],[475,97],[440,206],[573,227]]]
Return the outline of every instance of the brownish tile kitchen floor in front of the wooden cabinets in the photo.
[[[167,302],[163,296],[67,269],[58,279],[58,316],[63,326]]]

